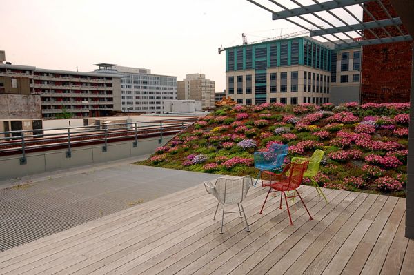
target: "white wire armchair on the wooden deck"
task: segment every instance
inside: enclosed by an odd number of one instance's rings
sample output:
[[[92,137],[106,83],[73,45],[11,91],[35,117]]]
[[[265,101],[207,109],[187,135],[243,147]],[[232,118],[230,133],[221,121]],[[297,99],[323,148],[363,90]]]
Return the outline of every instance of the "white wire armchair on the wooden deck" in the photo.
[[[250,228],[248,227],[242,202],[244,198],[246,198],[249,188],[253,186],[253,178],[251,176],[243,176],[241,178],[237,178],[235,176],[221,176],[219,179],[216,179],[215,183],[204,181],[204,186],[206,187],[207,193],[215,196],[218,201],[213,220],[215,220],[220,203],[223,205],[220,233],[223,233],[224,214],[230,213],[239,213],[240,218],[243,218],[243,213],[244,220],[246,221],[246,231],[249,232]],[[239,211],[224,212],[225,205],[233,203],[237,203]]]

